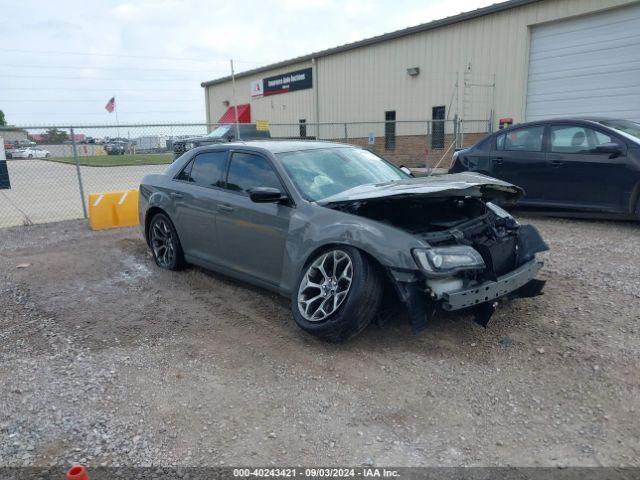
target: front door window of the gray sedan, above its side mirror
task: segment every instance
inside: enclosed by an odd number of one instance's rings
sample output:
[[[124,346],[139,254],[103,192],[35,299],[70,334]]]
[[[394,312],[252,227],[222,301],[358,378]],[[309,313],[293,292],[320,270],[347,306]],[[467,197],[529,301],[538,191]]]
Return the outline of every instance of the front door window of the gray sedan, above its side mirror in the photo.
[[[229,164],[227,188],[248,194],[254,187],[282,189],[276,172],[265,158],[251,153],[234,153]]]

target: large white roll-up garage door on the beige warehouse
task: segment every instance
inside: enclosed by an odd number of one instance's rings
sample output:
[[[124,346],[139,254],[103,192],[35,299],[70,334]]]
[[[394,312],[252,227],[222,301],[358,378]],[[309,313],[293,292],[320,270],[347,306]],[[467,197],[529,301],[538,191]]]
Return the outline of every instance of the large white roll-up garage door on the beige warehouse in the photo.
[[[640,4],[533,27],[527,120],[640,121]]]

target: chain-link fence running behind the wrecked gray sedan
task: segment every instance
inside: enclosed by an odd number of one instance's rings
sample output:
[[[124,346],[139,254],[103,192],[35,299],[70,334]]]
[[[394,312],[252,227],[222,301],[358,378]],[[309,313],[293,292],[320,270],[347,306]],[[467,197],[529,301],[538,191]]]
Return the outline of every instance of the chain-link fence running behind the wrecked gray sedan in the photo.
[[[149,124],[0,127],[9,185],[0,182],[0,227],[87,217],[91,193],[137,188],[197,139],[337,141],[396,165],[447,169],[456,149],[487,135],[487,120],[271,124]],[[196,139],[196,140],[194,140]],[[5,181],[6,183],[6,181]],[[3,188],[4,187],[4,188]]]

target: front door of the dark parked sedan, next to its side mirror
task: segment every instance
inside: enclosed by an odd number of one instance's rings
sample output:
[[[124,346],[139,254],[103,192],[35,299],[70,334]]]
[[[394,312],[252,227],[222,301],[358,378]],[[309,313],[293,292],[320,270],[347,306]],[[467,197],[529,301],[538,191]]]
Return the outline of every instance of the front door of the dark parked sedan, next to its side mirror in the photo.
[[[622,155],[598,152],[603,143],[617,143]],[[546,200],[566,208],[626,210],[633,178],[626,166],[626,145],[615,136],[583,124],[553,124],[547,159],[554,180]]]

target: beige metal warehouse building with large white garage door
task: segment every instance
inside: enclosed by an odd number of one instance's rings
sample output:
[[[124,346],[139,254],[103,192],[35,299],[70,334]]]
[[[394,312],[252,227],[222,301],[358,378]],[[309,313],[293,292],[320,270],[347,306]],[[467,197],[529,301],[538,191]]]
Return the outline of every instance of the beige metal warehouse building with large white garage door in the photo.
[[[414,163],[500,118],[640,121],[640,2],[509,0],[238,73],[235,102],[231,77],[202,86],[210,124],[234,121],[238,105],[241,122],[266,120],[274,136],[368,143]]]

